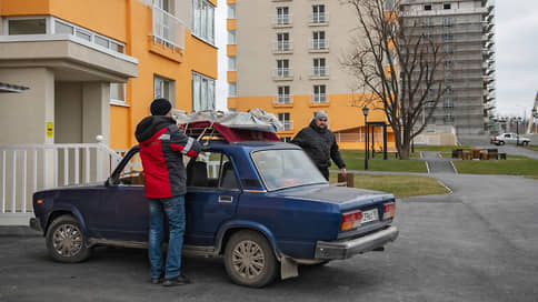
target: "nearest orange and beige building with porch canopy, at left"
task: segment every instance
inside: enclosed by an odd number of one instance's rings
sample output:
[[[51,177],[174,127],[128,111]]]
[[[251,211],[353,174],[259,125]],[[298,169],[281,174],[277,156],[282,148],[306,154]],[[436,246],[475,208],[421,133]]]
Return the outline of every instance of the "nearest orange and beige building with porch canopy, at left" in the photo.
[[[153,98],[215,108],[217,0],[2,0],[0,144],[136,144]],[[9,130],[8,130],[9,129]]]

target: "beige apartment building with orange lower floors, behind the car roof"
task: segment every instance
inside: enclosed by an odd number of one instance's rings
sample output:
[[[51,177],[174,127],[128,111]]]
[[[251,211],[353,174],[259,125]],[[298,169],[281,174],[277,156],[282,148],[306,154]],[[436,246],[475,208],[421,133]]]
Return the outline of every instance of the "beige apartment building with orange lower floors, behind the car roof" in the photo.
[[[288,141],[325,110],[340,148],[365,147],[362,94],[342,68],[353,47],[357,17],[333,0],[227,0],[228,108],[261,108],[283,123]],[[386,122],[381,110],[368,121]],[[375,142],[382,142],[377,127]],[[391,133],[389,142],[393,142]]]

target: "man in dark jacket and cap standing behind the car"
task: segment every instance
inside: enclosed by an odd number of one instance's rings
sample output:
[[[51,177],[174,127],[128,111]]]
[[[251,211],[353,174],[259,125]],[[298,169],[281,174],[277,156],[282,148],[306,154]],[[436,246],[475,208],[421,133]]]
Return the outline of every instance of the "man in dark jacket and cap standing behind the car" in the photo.
[[[291,142],[301,147],[310,159],[312,159],[321,174],[329,180],[331,159],[343,175],[346,175],[346,164],[340,157],[335,133],[327,128],[327,113],[325,111],[317,111],[313,113],[310,125],[299,131]]]

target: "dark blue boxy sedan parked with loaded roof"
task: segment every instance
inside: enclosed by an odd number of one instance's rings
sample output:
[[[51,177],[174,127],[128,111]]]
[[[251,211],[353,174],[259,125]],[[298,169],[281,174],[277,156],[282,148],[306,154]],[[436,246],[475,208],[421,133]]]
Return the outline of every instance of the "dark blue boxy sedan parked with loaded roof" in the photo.
[[[43,232],[52,259],[80,262],[96,245],[147,246],[138,152],[132,148],[104,183],[33,194],[30,224]],[[398,236],[392,194],[329,185],[293,144],[209,140],[187,174],[183,253],[222,256],[237,284],[265,286],[298,275],[298,264],[383,250]]]

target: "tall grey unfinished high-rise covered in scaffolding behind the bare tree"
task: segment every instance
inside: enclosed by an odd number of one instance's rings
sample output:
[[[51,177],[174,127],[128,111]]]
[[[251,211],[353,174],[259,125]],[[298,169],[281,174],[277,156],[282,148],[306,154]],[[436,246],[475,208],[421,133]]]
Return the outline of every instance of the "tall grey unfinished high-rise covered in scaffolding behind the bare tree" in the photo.
[[[400,1],[405,18],[421,20],[414,32],[440,44],[442,64],[436,77],[446,93],[435,110],[432,101],[426,104],[424,117],[434,110],[430,120],[422,119],[427,131],[446,127],[454,127],[457,134],[489,131],[495,108],[494,8],[488,0]]]

